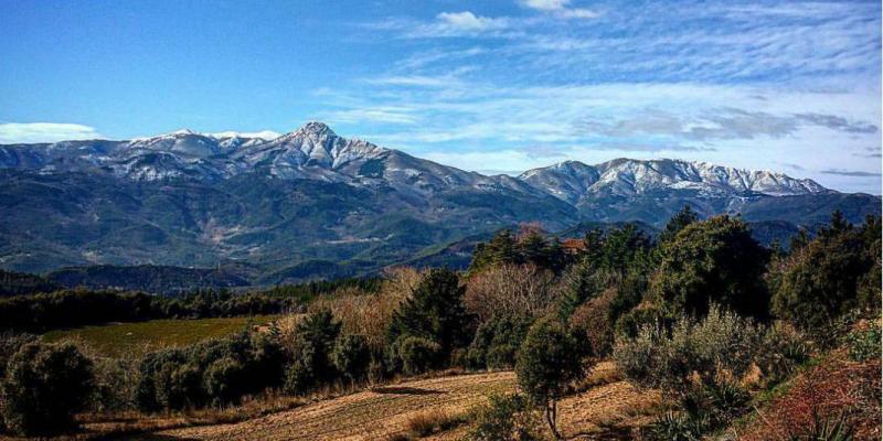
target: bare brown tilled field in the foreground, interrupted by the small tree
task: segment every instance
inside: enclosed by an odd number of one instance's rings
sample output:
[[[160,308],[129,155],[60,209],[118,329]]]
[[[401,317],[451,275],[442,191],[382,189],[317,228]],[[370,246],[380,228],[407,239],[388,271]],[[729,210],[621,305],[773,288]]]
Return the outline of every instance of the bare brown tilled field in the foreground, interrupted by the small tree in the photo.
[[[628,439],[635,426],[649,420],[658,394],[645,392],[609,376],[603,365],[593,375],[598,384],[558,404],[560,427],[568,438]],[[141,437],[142,440],[385,440],[406,432],[419,413],[459,415],[492,392],[515,390],[511,372],[457,375],[376,387],[344,397],[232,424],[192,427]],[[426,438],[450,441],[466,428]]]

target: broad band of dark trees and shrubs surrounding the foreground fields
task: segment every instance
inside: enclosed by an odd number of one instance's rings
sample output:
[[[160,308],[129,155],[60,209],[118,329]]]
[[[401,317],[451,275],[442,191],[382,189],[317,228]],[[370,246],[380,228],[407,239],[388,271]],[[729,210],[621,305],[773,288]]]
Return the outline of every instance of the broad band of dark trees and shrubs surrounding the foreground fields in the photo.
[[[881,219],[852,225],[833,213],[813,233],[767,247],[740,217],[700,219],[684,207],[656,237],[632,224],[589,229],[576,244],[530,226],[502,230],[476,247],[462,272],[397,268],[377,279],[171,299],[9,297],[0,299],[0,421],[11,433],[52,434],[75,429],[76,411],[224,407],[458,367],[514,369],[520,390],[493,397],[467,439],[560,438],[556,402],[611,359],[670,404],[643,437],[695,440],[744,421],[758,397],[807,366],[845,354],[842,363],[858,370],[841,386],[863,381],[850,389],[853,401],[817,396],[811,411],[767,419],[786,439],[850,439],[818,438],[831,428],[879,438]],[[0,280],[42,289],[40,280]],[[290,325],[134,359],[95,359],[75,343],[23,333],[267,313],[297,314]]]

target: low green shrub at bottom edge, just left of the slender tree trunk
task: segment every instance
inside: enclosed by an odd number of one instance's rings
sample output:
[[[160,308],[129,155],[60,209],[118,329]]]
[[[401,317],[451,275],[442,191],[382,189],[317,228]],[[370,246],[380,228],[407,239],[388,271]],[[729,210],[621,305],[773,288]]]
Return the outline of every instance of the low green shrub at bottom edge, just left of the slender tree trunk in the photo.
[[[465,440],[532,441],[542,440],[540,420],[526,397],[491,395],[486,406],[475,410],[475,423]]]

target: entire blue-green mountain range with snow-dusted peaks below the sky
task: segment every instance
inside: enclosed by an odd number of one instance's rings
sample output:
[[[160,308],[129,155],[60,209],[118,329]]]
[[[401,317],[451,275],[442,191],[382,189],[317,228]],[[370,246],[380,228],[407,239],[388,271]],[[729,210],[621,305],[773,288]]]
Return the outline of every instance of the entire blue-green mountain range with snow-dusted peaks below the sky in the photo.
[[[235,265],[273,283],[460,261],[456,244],[525,222],[549,232],[585,222],[659,227],[685,204],[794,232],[833,209],[859,222],[880,213],[881,200],[679,160],[483,175],[321,122],[287,135],[179,130],[0,146],[0,268]]]

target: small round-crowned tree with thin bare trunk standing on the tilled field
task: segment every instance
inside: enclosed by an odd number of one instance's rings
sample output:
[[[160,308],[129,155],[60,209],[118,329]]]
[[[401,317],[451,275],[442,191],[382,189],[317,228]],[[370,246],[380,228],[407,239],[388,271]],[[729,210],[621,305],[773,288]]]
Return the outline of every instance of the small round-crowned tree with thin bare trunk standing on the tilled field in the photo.
[[[538,406],[545,408],[545,418],[555,438],[555,400],[582,373],[581,352],[565,327],[553,320],[534,323],[522,343],[515,362],[520,389]]]

